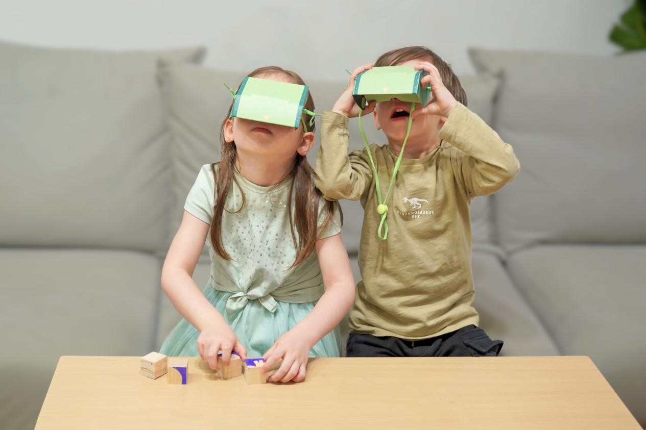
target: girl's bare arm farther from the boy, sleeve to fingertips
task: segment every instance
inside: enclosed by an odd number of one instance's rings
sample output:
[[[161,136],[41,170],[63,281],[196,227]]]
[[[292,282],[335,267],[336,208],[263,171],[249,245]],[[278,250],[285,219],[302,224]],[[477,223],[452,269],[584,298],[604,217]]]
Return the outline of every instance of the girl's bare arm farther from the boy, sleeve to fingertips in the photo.
[[[207,223],[184,211],[161,269],[161,287],[175,309],[200,331],[198,351],[202,360],[209,362],[211,369],[218,369],[220,350],[225,365],[231,359],[231,351],[236,351],[243,360],[247,351],[193,281],[208,232]]]

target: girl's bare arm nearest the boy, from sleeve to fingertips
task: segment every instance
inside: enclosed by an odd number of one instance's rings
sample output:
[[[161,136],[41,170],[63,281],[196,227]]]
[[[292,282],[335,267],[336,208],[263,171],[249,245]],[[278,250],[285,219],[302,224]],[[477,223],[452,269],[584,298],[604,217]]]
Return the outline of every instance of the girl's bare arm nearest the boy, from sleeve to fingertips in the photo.
[[[317,254],[325,292],[314,309],[265,353],[263,372],[283,359],[280,368],[269,377],[272,382],[304,380],[309,350],[339,324],[355,300],[355,282],[341,235],[318,240]]]

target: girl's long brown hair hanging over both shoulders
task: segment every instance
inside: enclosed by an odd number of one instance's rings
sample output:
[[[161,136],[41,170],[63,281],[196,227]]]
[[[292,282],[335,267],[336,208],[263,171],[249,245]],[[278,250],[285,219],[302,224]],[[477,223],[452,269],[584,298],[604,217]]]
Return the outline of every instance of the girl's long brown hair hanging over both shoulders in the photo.
[[[292,72],[291,70],[284,70],[283,68],[276,66],[256,68],[256,70],[253,70],[253,72],[249,73],[247,76],[260,77],[276,73],[284,74],[289,77],[292,83],[305,85],[303,79],[301,79],[297,73]],[[224,127],[227,119],[231,116],[232,108],[233,102],[231,103],[231,106],[229,106],[227,118],[222,121],[222,127],[220,128],[220,140],[222,141],[222,156],[220,158],[220,162],[213,163],[211,165],[211,171],[215,178],[215,206],[213,208],[213,221],[211,222],[211,227],[209,229],[209,237],[211,239],[213,250],[224,260],[231,260],[231,256],[229,256],[229,253],[224,248],[224,243],[222,243],[222,214],[225,210],[230,214],[237,214],[244,208],[246,203],[244,192],[242,192],[242,203],[238,209],[232,212],[225,207],[227,196],[229,196],[229,191],[231,190],[231,187],[233,187],[233,184],[235,183],[236,187],[240,189],[240,184],[233,174],[237,160],[236,144],[233,141],[231,143],[227,143],[224,140]],[[314,99],[312,98],[311,93],[307,95],[305,108],[312,112],[314,111]],[[305,123],[309,125],[310,116],[308,114],[303,114],[303,116]],[[313,132],[314,125],[311,125],[309,130],[303,131]],[[219,165],[219,169],[216,169],[217,165]],[[320,201],[321,193],[314,186],[314,181],[312,180],[312,168],[307,162],[307,158],[305,156],[298,153],[295,155],[294,165],[289,176],[293,178],[293,181],[291,182],[289,196],[287,197],[287,209],[289,209],[288,213],[289,225],[291,227],[291,238],[296,249],[296,259],[291,265],[291,269],[299,263],[302,263],[302,261],[309,257],[309,255],[315,250],[317,240],[328,229],[329,224],[332,222],[334,203],[326,201],[327,214],[320,228],[317,228],[318,202]],[[291,210],[292,201],[294,202],[293,216]],[[296,231],[294,231],[295,226]]]

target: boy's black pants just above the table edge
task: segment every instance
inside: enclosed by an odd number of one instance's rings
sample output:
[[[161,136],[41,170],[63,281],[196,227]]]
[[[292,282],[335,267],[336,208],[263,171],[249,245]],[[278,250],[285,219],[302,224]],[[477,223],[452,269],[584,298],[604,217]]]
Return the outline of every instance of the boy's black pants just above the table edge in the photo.
[[[423,340],[361,333],[348,338],[348,357],[481,357],[497,356],[502,348],[502,340],[491,340],[475,325]]]

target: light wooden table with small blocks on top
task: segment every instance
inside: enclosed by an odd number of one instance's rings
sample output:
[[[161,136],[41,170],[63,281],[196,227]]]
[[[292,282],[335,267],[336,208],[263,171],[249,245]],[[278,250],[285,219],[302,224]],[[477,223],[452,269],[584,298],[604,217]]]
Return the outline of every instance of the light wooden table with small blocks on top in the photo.
[[[36,429],[641,429],[587,357],[315,358],[300,384],[62,357]]]

